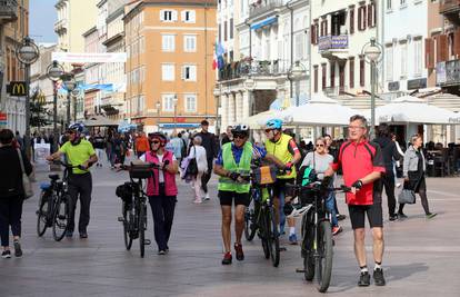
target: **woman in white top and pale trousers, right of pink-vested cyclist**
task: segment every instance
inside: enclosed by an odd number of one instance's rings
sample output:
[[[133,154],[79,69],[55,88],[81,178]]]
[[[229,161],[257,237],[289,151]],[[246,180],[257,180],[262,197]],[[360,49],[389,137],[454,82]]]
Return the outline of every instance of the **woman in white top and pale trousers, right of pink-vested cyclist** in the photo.
[[[206,150],[201,146],[201,137],[196,136],[192,140],[192,146],[190,148],[190,152],[188,156],[189,165],[190,167],[196,167],[197,169],[193,169],[196,174],[192,176],[192,185],[194,188],[194,200],[193,204],[201,204],[202,202],[202,195],[201,195],[201,177],[208,170],[208,159],[206,157]],[[194,162],[194,164],[193,164]]]

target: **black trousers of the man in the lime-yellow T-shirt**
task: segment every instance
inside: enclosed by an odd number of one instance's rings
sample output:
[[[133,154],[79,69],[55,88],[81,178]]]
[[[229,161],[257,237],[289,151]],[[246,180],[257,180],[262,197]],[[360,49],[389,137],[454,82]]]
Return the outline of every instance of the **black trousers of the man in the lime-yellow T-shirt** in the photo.
[[[86,232],[90,220],[92,178],[91,174],[70,175],[69,176],[69,228],[73,232],[76,222],[77,200],[80,198],[80,219],[78,222],[79,232]]]

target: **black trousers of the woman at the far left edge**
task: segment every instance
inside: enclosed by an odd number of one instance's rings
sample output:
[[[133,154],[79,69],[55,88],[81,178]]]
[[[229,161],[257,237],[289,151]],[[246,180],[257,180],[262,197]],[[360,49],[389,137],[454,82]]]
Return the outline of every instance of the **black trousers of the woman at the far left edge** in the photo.
[[[10,245],[10,226],[13,236],[21,236],[21,215],[23,199],[18,196],[0,197],[1,246]]]

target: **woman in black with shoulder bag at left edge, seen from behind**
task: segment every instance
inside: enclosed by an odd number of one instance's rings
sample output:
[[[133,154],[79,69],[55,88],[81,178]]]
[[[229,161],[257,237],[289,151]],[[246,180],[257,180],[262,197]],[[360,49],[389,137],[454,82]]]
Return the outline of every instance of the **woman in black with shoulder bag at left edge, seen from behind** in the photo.
[[[11,130],[0,130],[0,164],[2,166],[2,170],[0,170],[0,236],[1,257],[4,259],[11,258],[9,247],[10,226],[13,235],[14,256],[22,256],[19,241],[21,237],[22,202],[26,197],[30,196],[30,188],[24,189],[22,176],[26,174],[28,177],[32,174],[32,166],[26,154],[13,147],[13,137]],[[24,169],[22,170],[22,168]]]

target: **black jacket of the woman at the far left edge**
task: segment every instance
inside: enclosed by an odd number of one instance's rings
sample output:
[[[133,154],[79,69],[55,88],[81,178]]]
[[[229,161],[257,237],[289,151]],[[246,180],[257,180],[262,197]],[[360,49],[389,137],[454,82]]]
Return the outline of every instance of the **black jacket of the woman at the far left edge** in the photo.
[[[32,172],[32,166],[23,151],[21,155],[26,174],[29,176]],[[24,189],[22,188],[22,171],[16,148],[12,146],[1,147],[0,164],[0,198],[23,196]]]

